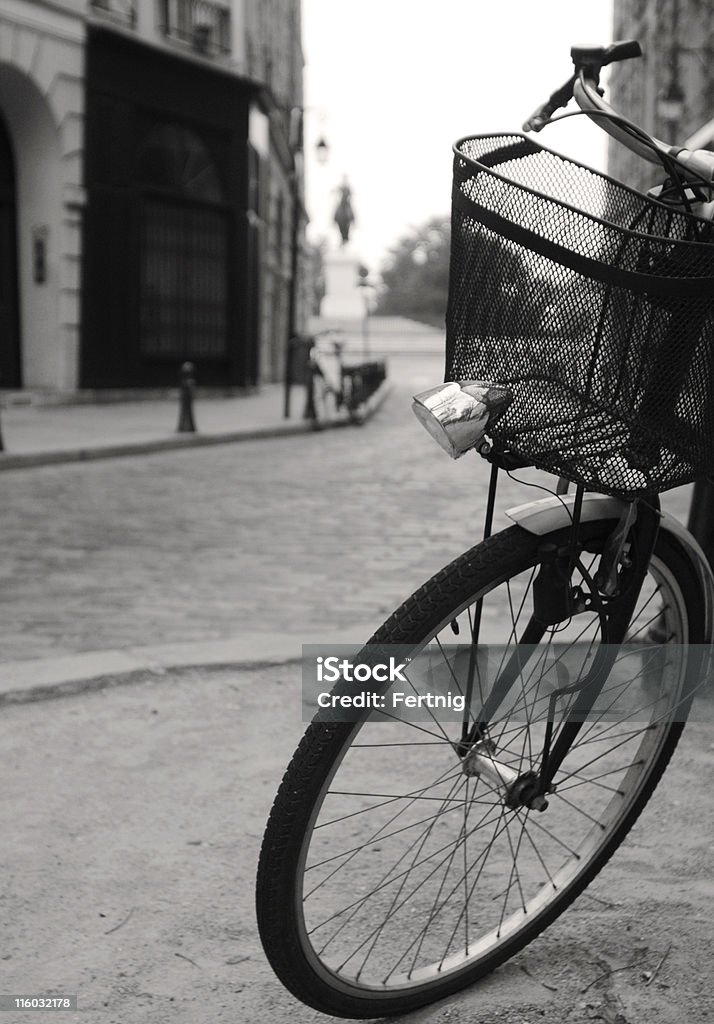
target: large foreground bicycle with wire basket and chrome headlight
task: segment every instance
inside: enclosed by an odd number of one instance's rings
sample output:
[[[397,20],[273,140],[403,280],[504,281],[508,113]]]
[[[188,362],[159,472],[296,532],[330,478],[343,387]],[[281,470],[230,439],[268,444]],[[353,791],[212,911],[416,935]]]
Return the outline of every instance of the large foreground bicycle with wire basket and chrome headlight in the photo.
[[[652,195],[524,134],[455,145],[447,383],[414,408],[491,463],[484,540],[371,638],[371,690],[342,669],[320,695],[276,798],[260,935],[324,1013],[404,1013],[539,935],[622,843],[706,680],[714,580],[659,494],[714,467],[714,154],[601,98],[601,69],[638,54],[574,48],[524,127],[575,97],[664,166]],[[499,474],[526,466],[561,483],[492,536]],[[394,651],[423,717],[374,683]],[[339,714],[355,692],[392,703]]]

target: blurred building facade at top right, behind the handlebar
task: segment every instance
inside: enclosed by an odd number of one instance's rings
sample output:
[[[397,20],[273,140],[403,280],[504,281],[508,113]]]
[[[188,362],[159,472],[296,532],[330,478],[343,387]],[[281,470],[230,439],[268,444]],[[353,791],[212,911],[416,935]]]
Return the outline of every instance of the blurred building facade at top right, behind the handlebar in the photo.
[[[614,39],[637,39],[638,59],[613,66],[610,100],[656,137],[682,144],[714,119],[714,5],[711,0],[615,0]],[[705,136],[708,136],[705,138]],[[714,146],[714,123],[698,147]],[[662,178],[612,142],[611,173],[635,187]]]

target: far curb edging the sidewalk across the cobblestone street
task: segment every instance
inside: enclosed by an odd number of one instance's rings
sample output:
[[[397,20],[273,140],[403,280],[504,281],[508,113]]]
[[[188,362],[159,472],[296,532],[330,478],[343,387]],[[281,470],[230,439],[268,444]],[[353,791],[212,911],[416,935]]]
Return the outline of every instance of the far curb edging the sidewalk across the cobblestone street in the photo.
[[[274,437],[291,437],[310,434],[337,427],[361,426],[367,423],[386,400],[391,385],[384,381],[365,402],[364,411],[353,420],[335,419],[329,423],[299,420],[294,423],[258,427],[254,430],[234,430],[215,434],[177,434],[146,441],[128,441],[124,444],[107,444],[96,447],[64,449],[56,452],[0,453],[0,471],[6,469],[33,469],[38,466],[56,466],[64,463],[94,462],[99,459],[118,459],[124,456],[153,455],[180,449],[206,447],[214,444],[234,444],[238,441],[267,440]]]

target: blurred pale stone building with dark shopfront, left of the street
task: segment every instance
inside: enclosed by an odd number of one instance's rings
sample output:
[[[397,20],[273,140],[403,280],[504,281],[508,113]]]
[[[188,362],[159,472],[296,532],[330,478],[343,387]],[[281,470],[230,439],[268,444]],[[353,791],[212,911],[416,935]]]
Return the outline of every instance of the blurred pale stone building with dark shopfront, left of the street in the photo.
[[[299,0],[0,5],[0,388],[280,379]]]

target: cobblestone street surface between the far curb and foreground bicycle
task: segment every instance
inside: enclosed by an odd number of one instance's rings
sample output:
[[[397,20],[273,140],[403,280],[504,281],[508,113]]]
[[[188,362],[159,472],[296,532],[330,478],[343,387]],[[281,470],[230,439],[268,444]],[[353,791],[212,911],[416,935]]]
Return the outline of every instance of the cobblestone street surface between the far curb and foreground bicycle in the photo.
[[[361,428],[2,473],[0,691],[367,639],[480,536],[488,466],[452,462],[410,409],[439,340],[400,354],[394,332],[392,393]],[[497,526],[539,497],[505,479]]]

